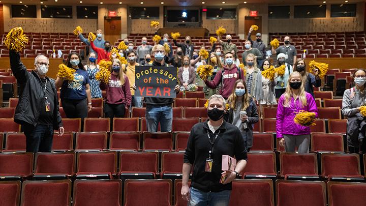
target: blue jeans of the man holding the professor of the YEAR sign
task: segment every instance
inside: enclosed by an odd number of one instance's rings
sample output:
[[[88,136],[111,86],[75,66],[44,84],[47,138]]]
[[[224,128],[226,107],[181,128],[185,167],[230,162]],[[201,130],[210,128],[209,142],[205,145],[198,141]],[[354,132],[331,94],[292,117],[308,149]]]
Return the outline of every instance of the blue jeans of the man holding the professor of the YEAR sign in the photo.
[[[173,121],[173,108],[169,105],[146,105],[147,131],[157,132],[160,123],[162,132],[170,132]]]

